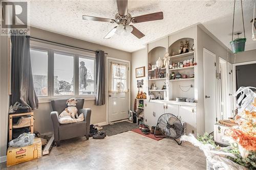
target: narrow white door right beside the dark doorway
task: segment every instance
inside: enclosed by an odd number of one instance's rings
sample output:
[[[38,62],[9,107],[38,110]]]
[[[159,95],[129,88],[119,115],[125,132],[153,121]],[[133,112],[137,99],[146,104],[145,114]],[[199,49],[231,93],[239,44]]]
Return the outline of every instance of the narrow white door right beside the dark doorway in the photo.
[[[232,80],[232,64],[227,63],[227,91],[228,91],[228,102],[227,102],[227,115],[233,117],[233,80]]]

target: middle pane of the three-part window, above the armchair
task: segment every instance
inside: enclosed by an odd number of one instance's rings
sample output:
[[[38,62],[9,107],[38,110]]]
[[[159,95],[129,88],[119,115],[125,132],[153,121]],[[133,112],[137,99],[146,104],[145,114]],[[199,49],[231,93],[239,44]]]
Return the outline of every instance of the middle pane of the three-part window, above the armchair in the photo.
[[[54,95],[74,95],[74,58],[54,53]]]

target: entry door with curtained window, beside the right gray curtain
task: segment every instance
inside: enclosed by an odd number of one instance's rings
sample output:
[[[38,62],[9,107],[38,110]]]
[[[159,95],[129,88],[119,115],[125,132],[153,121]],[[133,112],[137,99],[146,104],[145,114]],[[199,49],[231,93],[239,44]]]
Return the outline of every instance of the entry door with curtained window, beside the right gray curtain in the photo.
[[[128,118],[129,63],[108,60],[108,122]]]

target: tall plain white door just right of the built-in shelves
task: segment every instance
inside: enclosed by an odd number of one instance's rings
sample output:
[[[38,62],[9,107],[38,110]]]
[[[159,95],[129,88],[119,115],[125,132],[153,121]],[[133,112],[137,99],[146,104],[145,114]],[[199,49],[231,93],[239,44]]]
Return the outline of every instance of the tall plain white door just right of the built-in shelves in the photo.
[[[216,55],[204,48],[204,131],[214,131],[216,123]]]

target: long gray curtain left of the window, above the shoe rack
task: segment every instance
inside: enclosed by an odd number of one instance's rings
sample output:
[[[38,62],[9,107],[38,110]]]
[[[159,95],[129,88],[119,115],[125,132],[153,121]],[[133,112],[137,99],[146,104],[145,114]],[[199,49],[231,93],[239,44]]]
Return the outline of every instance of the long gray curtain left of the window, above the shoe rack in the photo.
[[[29,37],[24,35],[11,36],[12,42],[12,95],[11,105],[15,102],[29,106],[32,110],[38,108],[35,94],[30,60]]]

